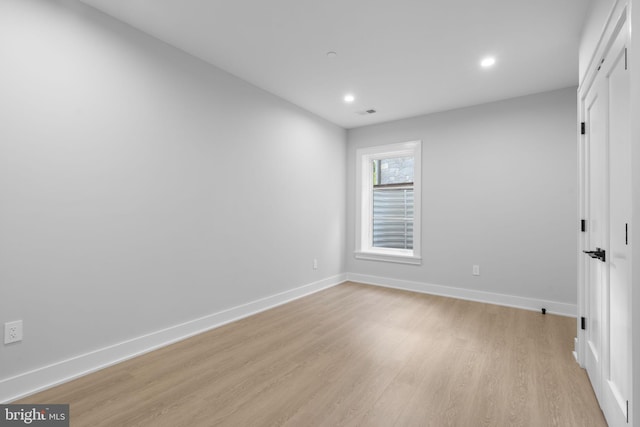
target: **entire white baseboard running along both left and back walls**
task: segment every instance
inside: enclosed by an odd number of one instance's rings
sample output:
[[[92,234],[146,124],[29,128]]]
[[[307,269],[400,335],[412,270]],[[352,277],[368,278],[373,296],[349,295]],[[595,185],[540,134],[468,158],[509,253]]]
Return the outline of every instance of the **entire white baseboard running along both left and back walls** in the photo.
[[[235,320],[251,316],[261,311],[285,304],[295,299],[313,294],[349,280],[387,288],[403,289],[433,295],[441,295],[470,301],[498,304],[526,310],[539,311],[542,307],[548,313],[575,317],[577,307],[555,301],[503,295],[492,292],[475,291],[450,286],[356,273],[339,274],[289,291],[271,295],[237,307],[213,313],[166,329],[152,332],[128,341],[81,354],[67,360],[43,366],[29,372],[0,380],[0,403],[8,403],[47,388],[71,381],[91,372],[98,371],[127,359],[173,344],[199,333],[220,327]]]

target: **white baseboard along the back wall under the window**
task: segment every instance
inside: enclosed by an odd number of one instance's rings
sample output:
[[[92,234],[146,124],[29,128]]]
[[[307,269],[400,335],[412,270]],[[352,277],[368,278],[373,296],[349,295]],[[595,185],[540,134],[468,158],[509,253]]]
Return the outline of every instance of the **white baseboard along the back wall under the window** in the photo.
[[[352,282],[364,283],[366,285],[403,289],[406,291],[420,292],[423,294],[440,295],[469,301],[485,302],[507,307],[522,308],[525,310],[540,311],[540,309],[546,308],[547,313],[559,314],[561,316],[576,317],[578,312],[578,308],[575,304],[519,297],[515,295],[497,294],[493,292],[475,291],[472,289],[454,288],[451,286],[432,285],[430,283],[412,282],[409,280],[391,279],[388,277],[347,273],[347,280]]]

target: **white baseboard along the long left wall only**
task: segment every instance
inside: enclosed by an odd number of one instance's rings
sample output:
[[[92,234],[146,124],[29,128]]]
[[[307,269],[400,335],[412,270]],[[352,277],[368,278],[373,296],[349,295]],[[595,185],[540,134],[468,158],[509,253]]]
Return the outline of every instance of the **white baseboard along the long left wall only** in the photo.
[[[345,280],[346,274],[339,274],[3,379],[0,381],[0,403],[15,401],[235,320],[339,285]]]

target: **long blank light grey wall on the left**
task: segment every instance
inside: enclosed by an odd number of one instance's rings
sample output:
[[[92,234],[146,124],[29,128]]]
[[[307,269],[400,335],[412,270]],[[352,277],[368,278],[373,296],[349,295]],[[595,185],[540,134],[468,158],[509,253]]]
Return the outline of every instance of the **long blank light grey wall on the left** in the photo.
[[[0,58],[0,386],[344,271],[343,129],[71,0]]]

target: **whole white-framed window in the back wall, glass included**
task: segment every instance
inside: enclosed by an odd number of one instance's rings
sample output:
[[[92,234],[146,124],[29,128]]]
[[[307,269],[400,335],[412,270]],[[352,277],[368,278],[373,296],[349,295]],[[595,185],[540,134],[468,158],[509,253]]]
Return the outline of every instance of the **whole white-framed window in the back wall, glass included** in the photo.
[[[420,264],[420,141],[356,158],[356,258]]]

